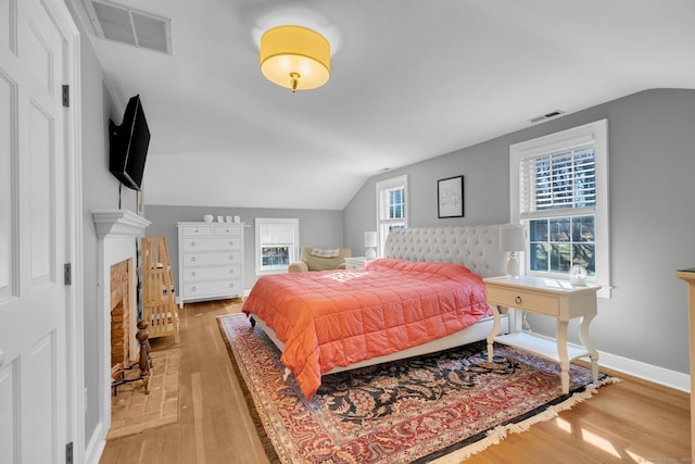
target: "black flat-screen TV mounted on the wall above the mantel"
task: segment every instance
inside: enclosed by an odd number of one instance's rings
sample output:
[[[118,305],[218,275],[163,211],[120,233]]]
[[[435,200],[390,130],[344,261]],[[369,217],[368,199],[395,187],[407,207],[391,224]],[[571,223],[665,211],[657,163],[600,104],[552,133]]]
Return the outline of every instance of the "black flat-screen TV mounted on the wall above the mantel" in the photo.
[[[150,128],[139,95],[128,101],[119,126],[113,121],[109,122],[109,171],[126,187],[140,190],[150,146]]]

